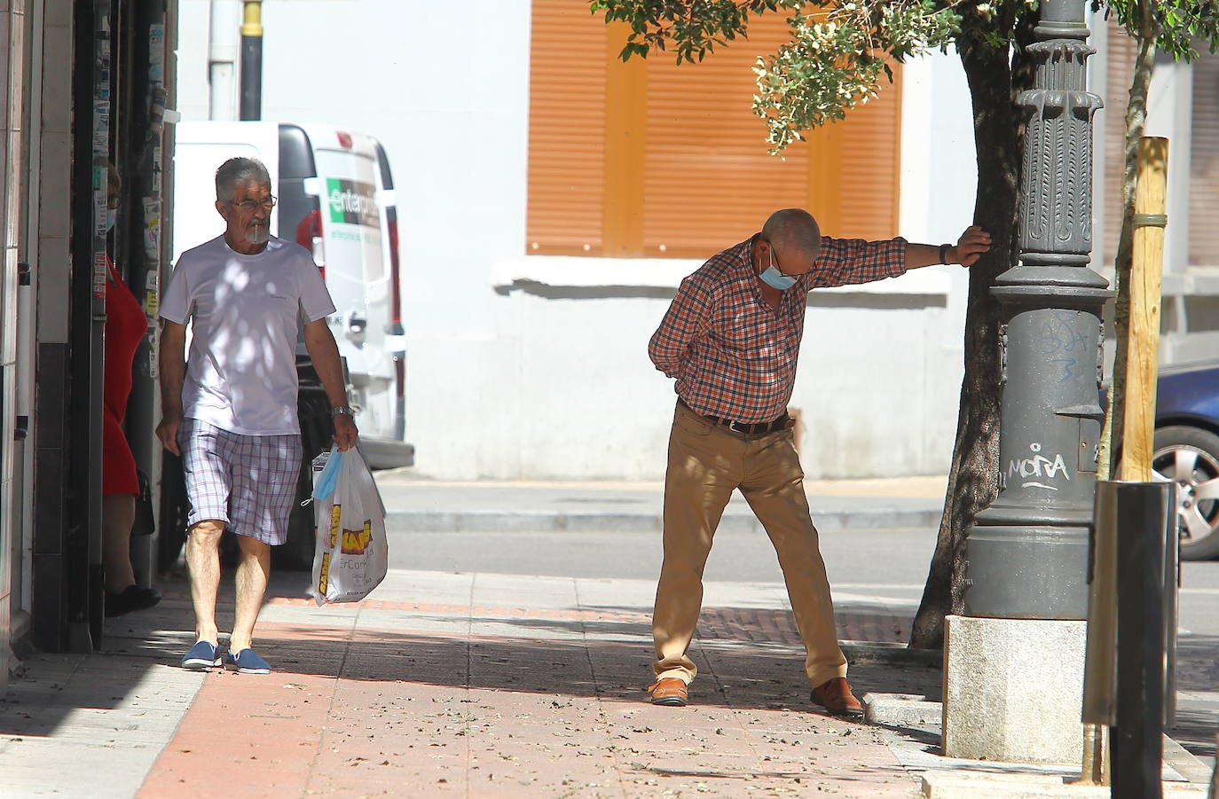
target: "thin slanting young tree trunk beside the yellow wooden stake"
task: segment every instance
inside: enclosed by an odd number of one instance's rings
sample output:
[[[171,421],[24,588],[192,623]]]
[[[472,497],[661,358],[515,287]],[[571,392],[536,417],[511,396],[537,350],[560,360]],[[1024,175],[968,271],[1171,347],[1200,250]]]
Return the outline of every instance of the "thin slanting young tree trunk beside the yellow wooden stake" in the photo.
[[[1097,477],[1109,480],[1114,473],[1114,442],[1121,438],[1126,413],[1126,347],[1130,333],[1130,267],[1134,248],[1135,178],[1139,173],[1139,140],[1147,123],[1147,89],[1156,67],[1156,39],[1159,26],[1152,12],[1151,0],[1139,4],[1139,55],[1130,82],[1130,105],[1126,106],[1125,169],[1121,180],[1121,236],[1113,259],[1113,374],[1109,380],[1109,401],[1101,434],[1101,456]]]

